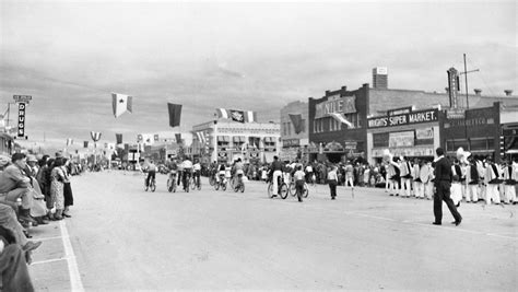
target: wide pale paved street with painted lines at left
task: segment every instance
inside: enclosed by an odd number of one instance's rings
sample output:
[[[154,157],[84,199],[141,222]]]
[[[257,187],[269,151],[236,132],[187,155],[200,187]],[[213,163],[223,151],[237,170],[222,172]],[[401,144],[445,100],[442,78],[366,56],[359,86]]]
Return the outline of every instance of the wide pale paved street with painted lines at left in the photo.
[[[455,227],[431,225],[432,201],[380,189],[325,186],[303,203],[245,194],[156,192],[143,176],[72,180],[72,219],[33,230],[44,244],[31,273],[39,291],[173,289],[514,290],[518,206],[462,205]]]

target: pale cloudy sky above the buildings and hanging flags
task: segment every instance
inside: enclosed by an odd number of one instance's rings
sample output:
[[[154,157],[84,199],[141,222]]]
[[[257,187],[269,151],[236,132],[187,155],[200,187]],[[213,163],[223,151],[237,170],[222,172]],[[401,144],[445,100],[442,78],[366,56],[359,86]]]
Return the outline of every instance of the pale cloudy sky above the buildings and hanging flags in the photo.
[[[32,95],[30,141],[58,144],[186,132],[217,107],[279,121],[285,104],[372,83],[378,66],[390,89],[444,92],[464,52],[480,69],[470,89],[518,90],[515,1],[0,0],[0,114]],[[111,92],[134,96],[133,113],[115,118]],[[184,106],[180,127],[168,102]]]

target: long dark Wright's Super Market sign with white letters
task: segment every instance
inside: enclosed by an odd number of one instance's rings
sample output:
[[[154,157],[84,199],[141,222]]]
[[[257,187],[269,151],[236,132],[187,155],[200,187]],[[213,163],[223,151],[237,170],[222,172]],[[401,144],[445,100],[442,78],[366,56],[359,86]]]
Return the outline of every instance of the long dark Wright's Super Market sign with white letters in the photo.
[[[438,110],[427,109],[421,112],[412,112],[396,116],[382,116],[376,118],[367,119],[367,127],[372,128],[384,128],[384,127],[395,127],[395,126],[404,126],[404,125],[412,125],[412,124],[421,124],[421,122],[431,122],[438,120]]]

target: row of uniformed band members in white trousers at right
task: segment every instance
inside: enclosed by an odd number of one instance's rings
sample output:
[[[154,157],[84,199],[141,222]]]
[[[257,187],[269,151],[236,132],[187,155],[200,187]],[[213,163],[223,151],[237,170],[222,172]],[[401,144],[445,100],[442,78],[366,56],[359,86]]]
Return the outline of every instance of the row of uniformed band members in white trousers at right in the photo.
[[[460,148],[451,165],[451,199],[456,206],[484,200],[491,203],[518,203],[516,182],[517,161],[497,164],[491,156],[474,156]],[[386,191],[390,196],[433,198],[435,172],[432,161],[395,157],[385,153],[387,168]]]

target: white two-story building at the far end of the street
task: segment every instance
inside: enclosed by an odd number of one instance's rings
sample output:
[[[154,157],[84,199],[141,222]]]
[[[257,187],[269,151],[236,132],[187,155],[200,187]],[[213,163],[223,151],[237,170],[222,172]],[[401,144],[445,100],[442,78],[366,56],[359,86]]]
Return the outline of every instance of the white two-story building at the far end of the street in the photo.
[[[193,126],[192,132],[192,153],[207,161],[225,163],[240,157],[246,162],[264,163],[272,162],[280,152],[279,124],[219,119]]]

